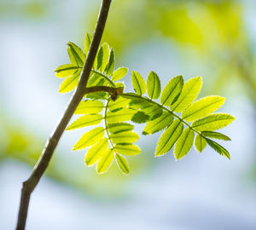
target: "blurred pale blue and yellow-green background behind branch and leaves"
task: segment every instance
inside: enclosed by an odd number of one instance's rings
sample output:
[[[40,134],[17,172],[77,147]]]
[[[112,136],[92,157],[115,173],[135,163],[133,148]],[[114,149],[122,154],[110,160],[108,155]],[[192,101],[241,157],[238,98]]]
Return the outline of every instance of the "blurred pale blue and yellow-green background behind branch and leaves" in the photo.
[[[0,0],[0,229],[14,229],[26,180],[71,94],[54,69],[68,62],[68,41],[83,46],[101,1]],[[204,95],[224,95],[236,117],[224,134],[231,161],[207,147],[176,162],[154,158],[160,134],[142,136],[131,175],[113,166],[96,175],[84,132],[66,132],[32,193],[26,229],[256,229],[256,2],[113,0],[103,41],[117,66],[162,87],[201,75]],[[125,91],[131,78],[125,77]],[[138,126],[141,133],[143,126]]]

